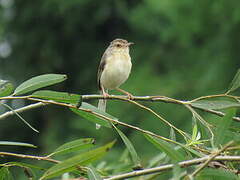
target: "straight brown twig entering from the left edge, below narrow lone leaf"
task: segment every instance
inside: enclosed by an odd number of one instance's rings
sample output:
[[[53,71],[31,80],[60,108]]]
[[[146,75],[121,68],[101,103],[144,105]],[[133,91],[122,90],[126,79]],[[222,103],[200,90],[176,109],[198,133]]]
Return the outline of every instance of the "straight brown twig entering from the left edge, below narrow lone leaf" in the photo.
[[[47,156],[32,156],[32,155],[16,154],[16,153],[9,153],[9,152],[0,152],[0,156],[14,156],[14,157],[19,157],[19,158],[24,158],[24,159],[49,161],[52,163],[60,163],[61,162],[61,161],[49,158]]]

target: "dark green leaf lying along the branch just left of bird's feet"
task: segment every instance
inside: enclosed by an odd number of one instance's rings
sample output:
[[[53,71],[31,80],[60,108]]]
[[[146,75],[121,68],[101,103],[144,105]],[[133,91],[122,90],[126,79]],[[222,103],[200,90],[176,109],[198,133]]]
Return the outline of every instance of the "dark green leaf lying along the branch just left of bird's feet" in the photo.
[[[34,92],[31,97],[53,100],[56,102],[69,103],[69,104],[78,104],[81,102],[81,96],[78,94],[70,94],[66,92],[58,92],[58,91],[49,91],[49,90],[41,90]]]

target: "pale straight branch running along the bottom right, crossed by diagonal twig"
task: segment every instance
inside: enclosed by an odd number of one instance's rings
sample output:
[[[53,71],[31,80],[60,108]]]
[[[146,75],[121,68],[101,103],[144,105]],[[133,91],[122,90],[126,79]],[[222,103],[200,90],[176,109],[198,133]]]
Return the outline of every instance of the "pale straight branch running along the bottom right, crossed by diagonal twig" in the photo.
[[[181,168],[196,165],[196,164],[199,164],[199,163],[206,162],[210,158],[210,156],[205,156],[205,157],[198,158],[198,159],[182,161],[182,162],[179,162],[178,165]],[[216,156],[216,157],[213,158],[213,160],[215,160],[215,161],[240,161],[240,156]],[[159,173],[159,172],[162,172],[162,171],[171,170],[171,169],[173,169],[173,167],[175,165],[176,164],[167,164],[167,165],[162,165],[162,166],[158,166],[158,167],[154,167],[154,168],[148,168],[148,169],[144,169],[144,170],[133,171],[133,172],[125,173],[125,174],[120,174],[120,175],[116,175],[116,176],[112,176],[112,177],[107,177],[104,180],[127,179],[127,178],[131,178],[131,177],[136,177],[136,176]]]

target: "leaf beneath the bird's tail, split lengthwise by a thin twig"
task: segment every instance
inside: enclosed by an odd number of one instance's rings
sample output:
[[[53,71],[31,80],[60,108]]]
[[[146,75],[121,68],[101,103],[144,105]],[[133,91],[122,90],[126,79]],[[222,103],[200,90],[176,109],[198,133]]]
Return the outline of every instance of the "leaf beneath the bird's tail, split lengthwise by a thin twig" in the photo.
[[[114,119],[115,121],[117,121],[118,119],[113,117],[112,115],[106,113],[106,112],[103,112],[101,110],[99,110],[98,108],[96,108],[95,106],[91,105],[91,104],[88,104],[88,103],[85,103],[83,102],[80,106],[80,108],[83,108],[86,111],[83,111],[83,110],[80,110],[80,109],[76,109],[76,108],[70,108],[73,112],[75,112],[76,114],[78,114],[79,116],[91,121],[91,122],[94,122],[96,124],[100,124],[101,126],[104,126],[104,127],[108,127],[108,128],[112,128],[112,125],[105,119],[101,118],[101,117],[98,117],[97,115],[95,115],[94,113],[97,113],[97,114],[100,114],[100,115],[103,115],[105,117],[108,117],[110,119]]]

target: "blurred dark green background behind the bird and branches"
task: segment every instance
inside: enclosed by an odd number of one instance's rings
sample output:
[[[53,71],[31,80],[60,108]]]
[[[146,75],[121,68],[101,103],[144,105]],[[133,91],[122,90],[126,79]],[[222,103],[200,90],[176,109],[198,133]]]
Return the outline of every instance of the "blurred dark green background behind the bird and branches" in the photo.
[[[132,73],[122,86],[132,94],[190,100],[222,93],[240,67],[239,8],[236,0],[0,0],[0,79],[17,86],[36,75],[62,73],[68,80],[51,89],[96,94],[101,56],[110,41],[123,38],[135,43],[130,50]],[[28,103],[18,100],[9,105]],[[144,104],[191,133],[191,114],[183,107]],[[118,101],[107,106],[107,112],[121,121],[169,137],[169,127],[152,114]],[[0,139],[39,148],[1,150],[44,154],[81,137],[94,137],[99,145],[118,138],[114,131],[97,131],[95,124],[60,107],[22,115],[40,133],[12,116],[0,122]],[[141,134],[122,129],[143,160],[157,153]],[[112,156],[123,150],[119,139]]]

